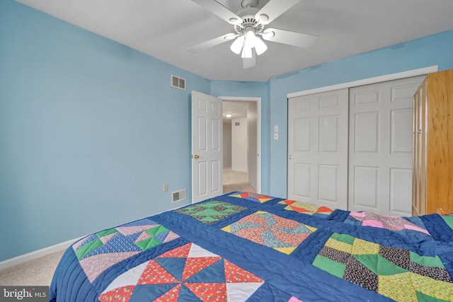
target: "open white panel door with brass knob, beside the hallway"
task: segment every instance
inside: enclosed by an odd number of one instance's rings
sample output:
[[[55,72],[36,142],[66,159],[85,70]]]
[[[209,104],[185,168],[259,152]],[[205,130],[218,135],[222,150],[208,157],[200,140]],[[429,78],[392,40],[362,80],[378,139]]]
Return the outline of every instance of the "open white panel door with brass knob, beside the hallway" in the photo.
[[[222,100],[192,91],[192,202],[223,192]]]

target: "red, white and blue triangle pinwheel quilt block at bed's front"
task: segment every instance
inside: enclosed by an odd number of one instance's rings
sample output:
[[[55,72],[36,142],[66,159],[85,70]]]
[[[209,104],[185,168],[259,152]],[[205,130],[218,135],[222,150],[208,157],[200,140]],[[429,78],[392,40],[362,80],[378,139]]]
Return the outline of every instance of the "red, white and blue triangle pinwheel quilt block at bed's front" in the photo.
[[[99,301],[246,300],[264,280],[194,243],[174,248],[114,279]]]

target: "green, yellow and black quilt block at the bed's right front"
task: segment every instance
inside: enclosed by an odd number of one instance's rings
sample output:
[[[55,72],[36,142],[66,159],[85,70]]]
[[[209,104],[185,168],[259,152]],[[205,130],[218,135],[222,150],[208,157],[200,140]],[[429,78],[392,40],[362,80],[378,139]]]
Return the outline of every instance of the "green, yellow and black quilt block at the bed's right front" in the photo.
[[[438,256],[420,256],[345,234],[334,233],[313,265],[396,301],[453,297],[453,279]]]

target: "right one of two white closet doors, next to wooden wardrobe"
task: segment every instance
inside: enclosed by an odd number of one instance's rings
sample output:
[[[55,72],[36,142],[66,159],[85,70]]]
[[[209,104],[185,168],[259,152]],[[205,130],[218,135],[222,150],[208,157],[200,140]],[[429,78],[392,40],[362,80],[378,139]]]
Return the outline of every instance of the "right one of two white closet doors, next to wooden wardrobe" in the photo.
[[[424,78],[350,89],[351,211],[411,216],[413,95]]]

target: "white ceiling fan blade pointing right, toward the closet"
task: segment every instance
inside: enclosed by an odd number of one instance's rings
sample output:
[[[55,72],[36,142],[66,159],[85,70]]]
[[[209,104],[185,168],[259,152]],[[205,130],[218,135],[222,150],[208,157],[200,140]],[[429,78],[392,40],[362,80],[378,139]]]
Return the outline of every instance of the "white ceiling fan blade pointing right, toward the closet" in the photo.
[[[262,35],[264,40],[293,45],[297,47],[309,48],[314,45],[318,39],[317,35],[309,35],[306,33],[296,33],[289,30],[279,30],[276,28],[267,28]]]

